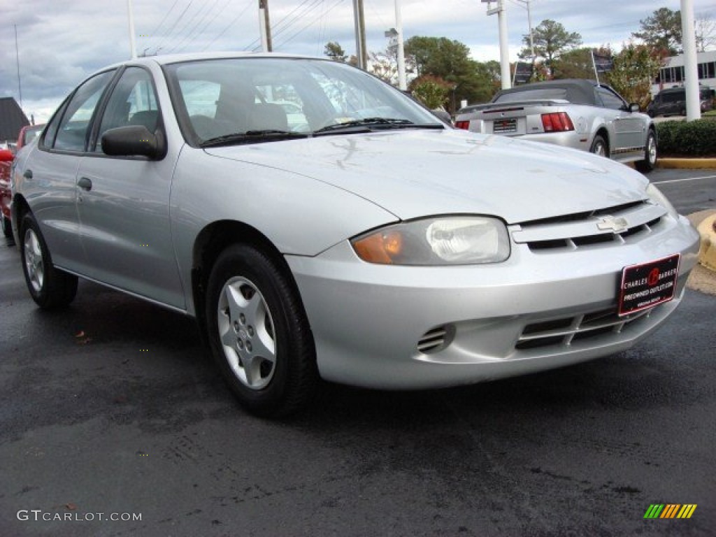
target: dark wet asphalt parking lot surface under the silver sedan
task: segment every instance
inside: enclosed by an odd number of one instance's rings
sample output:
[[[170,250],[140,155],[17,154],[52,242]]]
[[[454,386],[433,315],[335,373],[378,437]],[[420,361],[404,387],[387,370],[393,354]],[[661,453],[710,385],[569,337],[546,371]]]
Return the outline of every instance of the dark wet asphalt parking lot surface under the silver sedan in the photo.
[[[657,170],[679,212],[716,170]],[[639,347],[453,390],[236,405],[193,321],[82,282],[39,311],[0,250],[0,536],[712,536],[716,297]],[[652,504],[697,505],[645,519]]]

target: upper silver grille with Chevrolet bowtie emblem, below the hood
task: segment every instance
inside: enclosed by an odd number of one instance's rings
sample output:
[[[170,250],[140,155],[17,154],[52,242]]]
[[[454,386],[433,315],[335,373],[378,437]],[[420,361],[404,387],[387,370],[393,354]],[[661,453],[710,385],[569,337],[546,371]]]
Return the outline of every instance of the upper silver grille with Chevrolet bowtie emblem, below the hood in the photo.
[[[648,201],[521,223],[513,241],[534,252],[578,250],[641,240],[663,225],[667,211]]]

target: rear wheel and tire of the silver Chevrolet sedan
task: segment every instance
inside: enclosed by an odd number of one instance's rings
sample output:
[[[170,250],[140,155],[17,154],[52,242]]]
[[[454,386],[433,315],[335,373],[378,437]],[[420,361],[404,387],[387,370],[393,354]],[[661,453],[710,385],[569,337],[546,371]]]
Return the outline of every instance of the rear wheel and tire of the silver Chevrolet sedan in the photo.
[[[52,265],[47,243],[31,213],[22,219],[20,231],[20,256],[30,296],[42,309],[67,306],[77,294],[77,276]]]

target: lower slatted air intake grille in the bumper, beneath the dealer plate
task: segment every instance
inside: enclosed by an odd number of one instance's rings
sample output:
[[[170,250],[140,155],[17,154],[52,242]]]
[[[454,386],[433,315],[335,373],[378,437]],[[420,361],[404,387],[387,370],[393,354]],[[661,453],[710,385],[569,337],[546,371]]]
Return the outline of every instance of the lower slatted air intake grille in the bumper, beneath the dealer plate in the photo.
[[[524,327],[515,346],[518,350],[542,347],[568,346],[605,334],[619,334],[629,326],[637,326],[647,319],[656,308],[620,317],[616,308],[593,311],[589,314],[540,321]]]

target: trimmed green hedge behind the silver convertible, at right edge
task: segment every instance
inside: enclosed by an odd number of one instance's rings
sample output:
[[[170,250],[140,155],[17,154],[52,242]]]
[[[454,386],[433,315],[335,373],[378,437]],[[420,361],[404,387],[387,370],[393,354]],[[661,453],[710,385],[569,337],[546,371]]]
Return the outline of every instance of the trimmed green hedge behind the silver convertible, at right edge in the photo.
[[[664,121],[657,123],[662,157],[716,157],[716,121]]]

